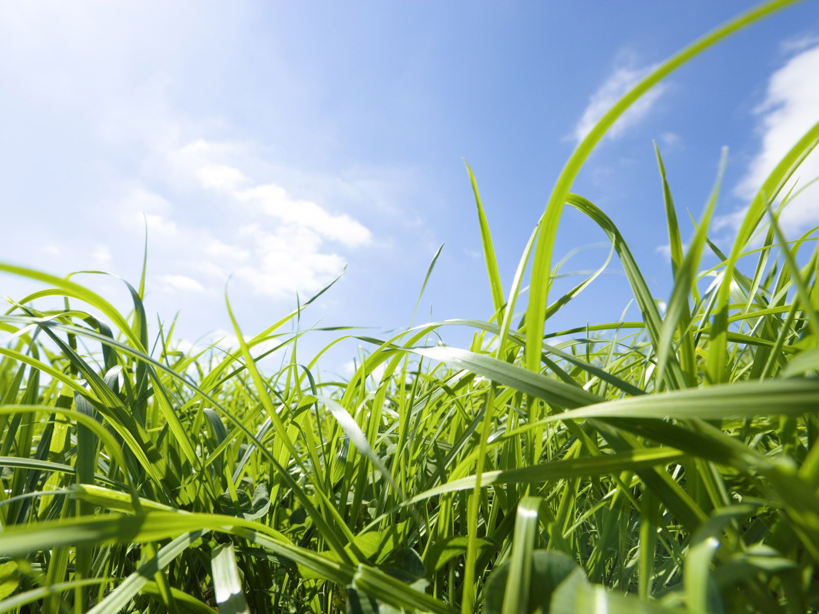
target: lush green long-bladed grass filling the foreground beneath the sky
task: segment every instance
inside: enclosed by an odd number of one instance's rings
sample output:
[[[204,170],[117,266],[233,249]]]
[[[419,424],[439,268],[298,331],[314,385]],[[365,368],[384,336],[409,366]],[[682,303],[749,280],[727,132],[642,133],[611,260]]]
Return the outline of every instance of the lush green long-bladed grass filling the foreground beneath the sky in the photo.
[[[708,237],[718,181],[683,249],[658,151],[664,313],[613,221],[570,192],[642,93],[789,3],[708,34],[604,116],[509,296],[470,170],[494,314],[359,336],[372,350],[349,381],[297,359],[287,329],[310,301],[249,338],[227,302],[236,351],[186,354],[173,327],[149,333],[144,269],[126,315],[0,264],[44,286],[0,317],[0,613],[819,611],[819,251],[777,224],[819,124],[727,254]],[[609,237],[641,321],[548,327],[598,274],[550,302],[565,205]],[[63,309],[38,309],[54,296]],[[455,325],[468,349],[429,345]],[[276,348],[290,359],[267,372]]]

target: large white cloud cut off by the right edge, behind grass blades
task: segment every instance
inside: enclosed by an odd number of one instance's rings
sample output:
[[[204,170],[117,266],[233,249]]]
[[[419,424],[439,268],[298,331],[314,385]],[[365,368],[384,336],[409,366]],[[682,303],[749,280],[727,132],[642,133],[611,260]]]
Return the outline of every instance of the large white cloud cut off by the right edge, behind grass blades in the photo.
[[[735,194],[749,201],[776,164],[819,120],[819,45],[790,58],[768,79],[765,99],[757,107],[760,146],[750,161]],[[819,176],[819,152],[814,150],[794,174],[797,187]],[[791,183],[792,185],[793,183]],[[785,187],[783,195],[790,186]],[[819,185],[813,184],[791,201],[781,216],[786,235],[793,236],[819,224]],[[736,228],[744,209],[714,220],[715,228]]]

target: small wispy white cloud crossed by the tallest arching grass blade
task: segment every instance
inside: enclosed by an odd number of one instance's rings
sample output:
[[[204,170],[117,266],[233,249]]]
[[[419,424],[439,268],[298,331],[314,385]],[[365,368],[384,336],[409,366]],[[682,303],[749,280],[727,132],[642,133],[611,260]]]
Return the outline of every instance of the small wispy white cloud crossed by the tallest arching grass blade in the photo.
[[[583,115],[581,115],[580,120],[574,127],[572,139],[581,142],[583,138],[586,138],[586,134],[590,133],[591,129],[598,120],[605,115],[606,111],[609,111],[623,94],[627,93],[632,86],[645,77],[646,74],[649,74],[651,70],[654,70],[654,66],[634,68],[631,65],[624,65],[614,70],[614,72],[609,75],[609,78],[606,79],[603,84],[600,85],[600,88],[589,98],[589,104],[586,106],[586,110],[583,111]],[[663,82],[655,85],[654,88],[651,88],[647,93],[643,94],[637,102],[629,107],[628,111],[620,116],[611,129],[609,129],[607,136],[609,138],[621,137],[627,129],[638,124],[640,120],[648,114],[651,107],[654,106],[654,102],[658,101],[658,98],[663,95],[667,88],[667,82]]]

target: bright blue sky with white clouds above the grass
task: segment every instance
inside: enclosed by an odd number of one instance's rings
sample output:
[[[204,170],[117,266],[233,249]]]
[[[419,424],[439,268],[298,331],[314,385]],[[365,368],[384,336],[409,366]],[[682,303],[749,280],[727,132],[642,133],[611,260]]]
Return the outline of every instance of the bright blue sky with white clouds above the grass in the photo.
[[[305,323],[405,327],[483,318],[491,299],[472,165],[511,282],[564,160],[629,84],[753,2],[28,2],[0,5],[0,260],[138,280],[189,341],[256,332],[348,265]],[[803,2],[699,56],[649,95],[574,188],[618,223],[664,297],[669,265],[652,139],[684,234],[730,149],[714,238],[819,118],[819,9]],[[803,181],[819,175],[812,156]],[[786,214],[819,223],[817,189]],[[571,211],[564,270],[599,266]],[[617,319],[619,263],[547,323]],[[79,278],[118,297],[113,280]],[[569,278],[566,282],[576,282]],[[0,278],[19,298],[31,286]],[[637,318],[633,311],[630,317]],[[318,336],[308,347],[331,340]],[[466,342],[463,335],[453,342]],[[355,345],[347,346],[347,358]],[[331,360],[343,369],[343,352]]]

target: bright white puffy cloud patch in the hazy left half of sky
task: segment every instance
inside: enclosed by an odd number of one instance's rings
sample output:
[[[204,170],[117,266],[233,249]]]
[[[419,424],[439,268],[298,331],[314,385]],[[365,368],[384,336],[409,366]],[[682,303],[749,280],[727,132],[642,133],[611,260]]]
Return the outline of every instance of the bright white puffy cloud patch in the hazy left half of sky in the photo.
[[[146,214],[149,234],[159,235],[161,250],[173,246],[174,267],[203,287],[234,273],[259,295],[317,291],[346,264],[333,244],[367,246],[372,233],[350,215],[296,198],[277,183],[254,182],[240,168],[263,167],[253,150],[252,144],[199,138],[158,154],[164,165],[154,164],[201,212],[183,219],[190,205],[140,190],[129,197],[124,215],[133,223],[134,207],[143,203],[154,211]]]

